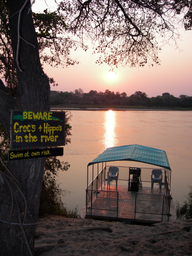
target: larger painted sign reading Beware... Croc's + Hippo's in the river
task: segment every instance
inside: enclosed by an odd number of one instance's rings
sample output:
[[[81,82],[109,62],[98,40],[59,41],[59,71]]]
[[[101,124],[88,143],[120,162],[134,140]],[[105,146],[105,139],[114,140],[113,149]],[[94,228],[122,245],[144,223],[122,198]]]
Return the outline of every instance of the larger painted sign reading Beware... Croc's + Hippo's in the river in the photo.
[[[11,150],[65,145],[65,112],[11,110]]]

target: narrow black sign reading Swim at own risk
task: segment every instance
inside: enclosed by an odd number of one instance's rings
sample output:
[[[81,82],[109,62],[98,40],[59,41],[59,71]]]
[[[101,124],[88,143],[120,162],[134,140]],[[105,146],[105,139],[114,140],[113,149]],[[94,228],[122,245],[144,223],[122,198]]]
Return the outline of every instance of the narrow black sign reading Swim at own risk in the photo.
[[[9,151],[9,160],[20,160],[37,157],[56,157],[63,155],[63,147],[56,148],[38,148],[28,150]]]

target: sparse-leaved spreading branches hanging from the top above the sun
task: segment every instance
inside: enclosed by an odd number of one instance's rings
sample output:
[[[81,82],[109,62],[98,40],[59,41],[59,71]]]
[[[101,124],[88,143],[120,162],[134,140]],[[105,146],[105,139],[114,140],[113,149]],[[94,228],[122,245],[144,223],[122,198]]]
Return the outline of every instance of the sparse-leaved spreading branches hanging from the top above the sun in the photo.
[[[169,0],[66,0],[58,11],[69,30],[91,38],[94,52],[103,56],[97,63],[142,67],[159,64],[158,39],[166,44],[177,37],[174,29],[181,19],[175,15],[186,5]]]

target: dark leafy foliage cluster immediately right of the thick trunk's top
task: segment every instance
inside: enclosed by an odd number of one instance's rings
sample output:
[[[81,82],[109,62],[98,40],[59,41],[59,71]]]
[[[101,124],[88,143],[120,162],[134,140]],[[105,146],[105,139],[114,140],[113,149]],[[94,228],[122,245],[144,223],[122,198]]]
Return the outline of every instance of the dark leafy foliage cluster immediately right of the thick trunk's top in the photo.
[[[70,51],[76,50],[78,46],[84,50],[87,47],[67,34],[65,17],[62,13],[46,9],[43,13],[33,12],[33,19],[42,63],[47,63],[51,67],[58,65],[66,67],[79,63],[71,59]]]

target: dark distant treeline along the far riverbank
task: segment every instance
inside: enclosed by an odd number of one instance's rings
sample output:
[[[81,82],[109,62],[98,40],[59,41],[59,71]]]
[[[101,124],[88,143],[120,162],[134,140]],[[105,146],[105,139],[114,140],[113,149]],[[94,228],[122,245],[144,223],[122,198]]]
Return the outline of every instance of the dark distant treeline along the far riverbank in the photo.
[[[59,105],[97,105],[97,106],[144,106],[158,108],[192,108],[192,96],[180,95],[178,98],[172,94],[163,93],[161,96],[149,98],[146,93],[136,91],[134,94],[127,96],[126,93],[105,90],[83,93],[81,88],[74,92],[70,91],[50,91],[50,103],[52,106]]]

